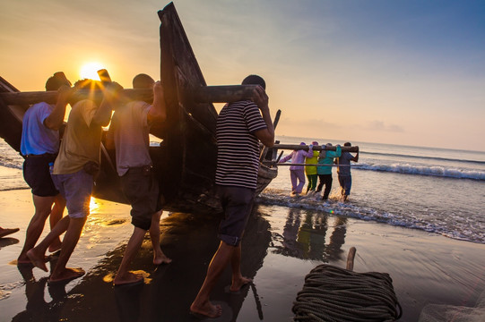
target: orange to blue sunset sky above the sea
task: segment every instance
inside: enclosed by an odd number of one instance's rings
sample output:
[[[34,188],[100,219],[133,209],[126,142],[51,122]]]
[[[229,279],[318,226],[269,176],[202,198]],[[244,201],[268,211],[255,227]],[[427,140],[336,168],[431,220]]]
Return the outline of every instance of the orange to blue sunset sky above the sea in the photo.
[[[54,72],[75,81],[98,63],[125,88],[140,72],[159,79],[166,4],[2,1],[0,76],[44,90]],[[485,151],[483,0],[174,4],[208,85],[264,77],[277,135]]]

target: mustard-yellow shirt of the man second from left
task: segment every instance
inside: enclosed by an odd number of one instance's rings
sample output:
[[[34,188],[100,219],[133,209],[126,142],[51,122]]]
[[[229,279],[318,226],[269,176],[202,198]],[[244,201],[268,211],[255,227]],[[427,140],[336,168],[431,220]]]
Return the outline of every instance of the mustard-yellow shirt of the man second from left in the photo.
[[[92,117],[97,109],[98,106],[88,99],[74,104],[67,120],[53,174],[74,174],[88,161],[100,164],[102,128],[96,124],[91,126]]]

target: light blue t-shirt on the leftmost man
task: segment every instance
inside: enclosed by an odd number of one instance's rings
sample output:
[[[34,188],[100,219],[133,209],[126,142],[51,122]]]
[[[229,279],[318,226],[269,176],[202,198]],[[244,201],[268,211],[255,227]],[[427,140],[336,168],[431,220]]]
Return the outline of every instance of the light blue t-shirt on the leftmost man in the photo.
[[[41,102],[30,106],[22,121],[22,155],[56,154],[59,151],[59,131],[48,129],[44,120],[52,113],[54,106]]]

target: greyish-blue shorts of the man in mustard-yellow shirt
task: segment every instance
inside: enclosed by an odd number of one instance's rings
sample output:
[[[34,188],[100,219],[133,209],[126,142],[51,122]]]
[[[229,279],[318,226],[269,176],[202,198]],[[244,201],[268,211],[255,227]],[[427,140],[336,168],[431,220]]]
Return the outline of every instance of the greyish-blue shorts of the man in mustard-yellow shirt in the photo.
[[[52,181],[65,198],[65,208],[71,218],[83,218],[90,214],[90,202],[94,179],[80,170],[74,174],[52,174]]]

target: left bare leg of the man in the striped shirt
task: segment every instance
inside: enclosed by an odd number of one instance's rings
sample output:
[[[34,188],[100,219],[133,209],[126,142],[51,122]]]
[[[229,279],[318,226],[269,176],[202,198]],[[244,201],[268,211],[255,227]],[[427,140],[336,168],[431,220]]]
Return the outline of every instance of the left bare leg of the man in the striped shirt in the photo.
[[[209,301],[209,296],[222,272],[230,263],[234,250],[234,246],[221,242],[219,249],[212,257],[211,264],[209,264],[204,284],[202,284],[201,289],[190,306],[191,312],[208,318],[221,317],[221,305],[213,305],[211,301]]]

